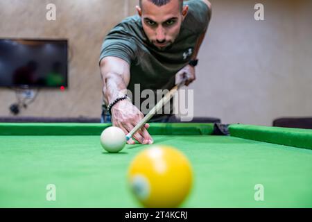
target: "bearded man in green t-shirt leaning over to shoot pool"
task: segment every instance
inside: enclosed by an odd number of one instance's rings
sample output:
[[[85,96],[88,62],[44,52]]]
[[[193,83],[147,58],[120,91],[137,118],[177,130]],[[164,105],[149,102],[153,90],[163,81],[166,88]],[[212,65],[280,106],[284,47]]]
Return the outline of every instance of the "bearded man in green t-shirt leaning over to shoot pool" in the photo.
[[[211,5],[207,0],[140,0],[137,13],[108,33],[100,56],[102,119],[112,121],[125,134],[146,114],[127,99],[127,89],[135,98],[141,96],[136,92],[137,84],[140,90],[153,89],[156,94],[157,89],[171,89],[175,76],[186,76],[185,85],[195,80],[198,50],[210,21]],[[152,121],[168,121],[172,116],[172,112],[156,114]],[[141,144],[153,144],[148,126],[146,123],[133,135]],[[128,144],[135,142],[130,139]]]

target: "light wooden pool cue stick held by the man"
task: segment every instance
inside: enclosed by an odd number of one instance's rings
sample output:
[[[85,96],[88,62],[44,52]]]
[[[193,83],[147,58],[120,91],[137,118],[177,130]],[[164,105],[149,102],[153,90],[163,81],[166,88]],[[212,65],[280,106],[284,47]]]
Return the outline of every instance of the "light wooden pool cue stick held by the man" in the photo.
[[[153,109],[151,109],[150,112],[148,112],[148,114],[146,114],[146,116],[141,119],[139,123],[137,123],[135,128],[133,128],[130,133],[125,136],[125,139],[128,141],[132,137],[132,135],[137,133],[137,130],[143,127],[145,123],[147,123],[147,121],[150,120],[150,118],[152,118],[154,114],[156,114],[158,110],[162,108],[163,105],[168,103],[168,101],[172,98],[175,92],[177,92],[177,90],[185,84],[185,81],[186,80],[182,80],[179,84],[175,85],[161,100],[159,100],[158,103],[153,107]]]

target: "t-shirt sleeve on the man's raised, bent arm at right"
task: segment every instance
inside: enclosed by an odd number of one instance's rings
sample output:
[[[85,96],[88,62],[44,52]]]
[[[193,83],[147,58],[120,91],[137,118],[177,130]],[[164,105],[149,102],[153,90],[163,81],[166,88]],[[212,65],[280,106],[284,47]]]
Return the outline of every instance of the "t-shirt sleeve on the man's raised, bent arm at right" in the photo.
[[[211,19],[211,8],[202,0],[184,1],[184,5],[189,6],[187,26],[196,33],[205,31]]]

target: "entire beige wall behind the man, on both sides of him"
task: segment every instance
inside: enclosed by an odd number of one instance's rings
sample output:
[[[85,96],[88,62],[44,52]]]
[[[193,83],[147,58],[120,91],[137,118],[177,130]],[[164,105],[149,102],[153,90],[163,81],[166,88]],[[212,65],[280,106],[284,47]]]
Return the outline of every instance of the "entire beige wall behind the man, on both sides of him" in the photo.
[[[58,18],[48,22],[45,6]],[[309,0],[211,0],[213,15],[200,49],[194,89],[198,117],[224,123],[271,125],[276,117],[312,116],[312,2]],[[254,20],[263,3],[265,21]],[[42,90],[21,115],[98,117],[101,78],[98,53],[105,33],[137,0],[2,0],[1,37],[67,37],[73,51],[69,90]],[[0,89],[0,116],[10,115],[15,95]]]

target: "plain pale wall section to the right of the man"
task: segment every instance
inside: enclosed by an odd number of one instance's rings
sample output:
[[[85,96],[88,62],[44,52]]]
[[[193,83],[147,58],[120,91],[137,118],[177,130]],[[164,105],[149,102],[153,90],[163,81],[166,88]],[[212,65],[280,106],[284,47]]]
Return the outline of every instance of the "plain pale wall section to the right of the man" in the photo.
[[[277,117],[311,117],[311,1],[212,3],[200,51],[205,62],[192,86],[195,103],[207,103],[196,114],[264,125]],[[263,3],[265,21],[254,20],[256,3]]]

